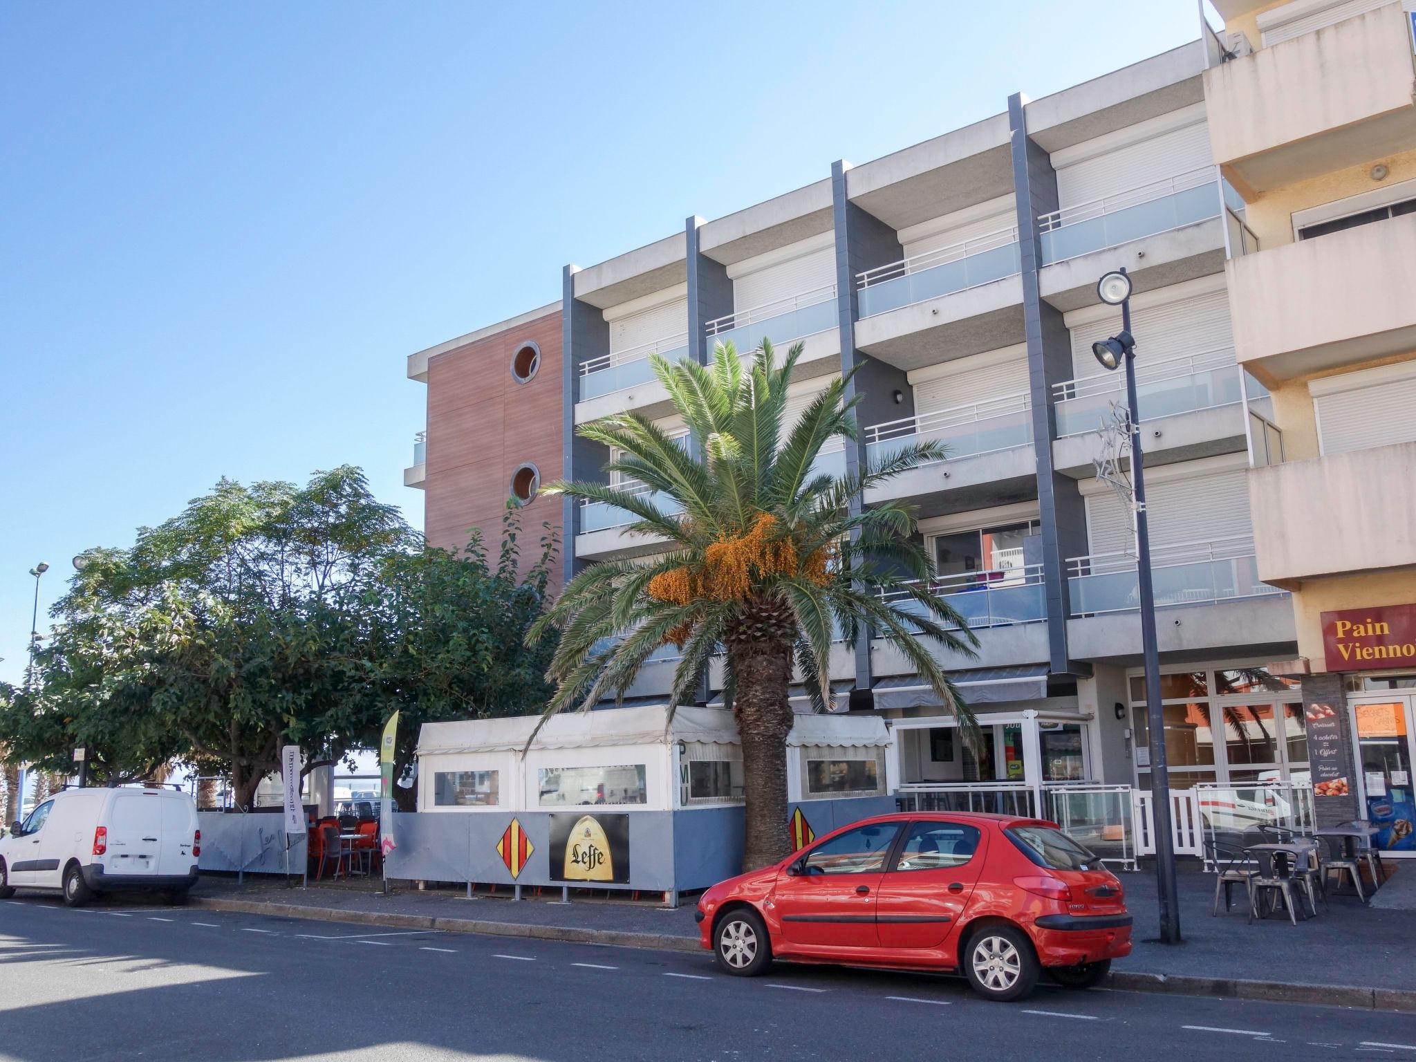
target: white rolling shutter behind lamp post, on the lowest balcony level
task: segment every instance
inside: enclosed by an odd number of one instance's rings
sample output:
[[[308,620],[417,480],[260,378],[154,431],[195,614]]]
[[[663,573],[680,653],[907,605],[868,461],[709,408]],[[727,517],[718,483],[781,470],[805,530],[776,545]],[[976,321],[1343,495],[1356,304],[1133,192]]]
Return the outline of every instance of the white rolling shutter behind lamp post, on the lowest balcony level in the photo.
[[[1214,542],[1218,538],[1252,535],[1249,486],[1243,469],[1157,480],[1146,484],[1151,551],[1182,542]],[[1086,527],[1092,554],[1124,549],[1134,554],[1130,514],[1114,491],[1086,498]]]

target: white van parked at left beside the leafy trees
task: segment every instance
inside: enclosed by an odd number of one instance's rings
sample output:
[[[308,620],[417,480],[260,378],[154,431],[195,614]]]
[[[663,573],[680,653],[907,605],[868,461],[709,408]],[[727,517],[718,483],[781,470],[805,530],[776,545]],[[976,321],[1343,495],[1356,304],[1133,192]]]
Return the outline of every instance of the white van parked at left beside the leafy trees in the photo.
[[[62,891],[69,906],[118,889],[163,889],[170,903],[197,884],[197,806],[171,789],[65,789],[0,838],[0,899]]]

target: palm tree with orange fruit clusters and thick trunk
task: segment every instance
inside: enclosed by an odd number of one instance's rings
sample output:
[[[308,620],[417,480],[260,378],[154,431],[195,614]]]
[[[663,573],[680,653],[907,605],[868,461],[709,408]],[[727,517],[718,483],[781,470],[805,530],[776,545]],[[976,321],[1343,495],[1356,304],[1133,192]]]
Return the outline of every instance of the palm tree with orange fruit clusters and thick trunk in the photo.
[[[845,401],[850,377],[837,378],[796,425],[784,425],[787,384],[800,355],[796,344],[777,365],[766,340],[750,365],[732,344],[718,344],[709,365],[670,365],[651,355],[695,446],[683,446],[636,412],[579,429],[622,452],[607,470],[643,487],[554,483],[547,491],[627,510],[636,518],[627,531],[666,539],[668,552],[588,568],[528,634],[535,641],[547,627],[561,633],[547,673],[556,691],[542,724],[607,694],[623,697],[667,643],[681,650],[668,695],[673,712],[697,700],[709,661],[725,653],[724,701],[742,741],[748,869],[790,851],[787,691],[794,664],[816,709],[824,711],[833,697],[833,637],[854,643],[867,624],[891,639],[966,735],[976,731],[926,643],[970,656],[978,643],[930,589],[933,571],[913,538],[912,508],[895,501],[851,508],[867,489],[942,460],[944,449],[909,443],[857,476],[820,472],[824,443],[857,438],[858,398]]]

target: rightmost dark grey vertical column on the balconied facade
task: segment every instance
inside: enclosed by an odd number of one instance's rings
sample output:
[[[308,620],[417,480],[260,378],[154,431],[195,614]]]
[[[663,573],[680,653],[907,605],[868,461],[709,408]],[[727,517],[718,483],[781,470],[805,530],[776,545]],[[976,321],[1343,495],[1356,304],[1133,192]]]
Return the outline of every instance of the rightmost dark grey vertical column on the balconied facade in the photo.
[[[1086,520],[1076,483],[1052,464],[1056,413],[1052,385],[1070,378],[1072,348],[1062,314],[1042,302],[1042,235],[1038,217],[1058,208],[1056,173],[1048,153],[1032,142],[1021,93],[1008,98],[1012,143],[1012,187],[1017,197],[1018,246],[1022,261],[1022,320],[1028,344],[1028,394],[1032,447],[1038,463],[1038,508],[1042,530],[1042,579],[1048,612],[1048,656],[1054,673],[1076,673],[1068,653],[1068,583],[1063,559],[1085,552]],[[1082,535],[1083,541],[1078,541]]]

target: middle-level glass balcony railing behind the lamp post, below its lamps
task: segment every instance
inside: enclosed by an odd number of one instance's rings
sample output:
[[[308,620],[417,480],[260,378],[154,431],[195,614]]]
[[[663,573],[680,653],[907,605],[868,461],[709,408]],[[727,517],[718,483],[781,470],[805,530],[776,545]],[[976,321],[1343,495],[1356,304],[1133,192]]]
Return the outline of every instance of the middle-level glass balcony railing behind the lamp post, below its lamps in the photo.
[[[1058,438],[1095,432],[1112,402],[1126,402],[1124,372],[1093,372],[1054,384]],[[1189,413],[1243,401],[1233,347],[1164,361],[1136,360],[1136,401],[1141,421]]]

